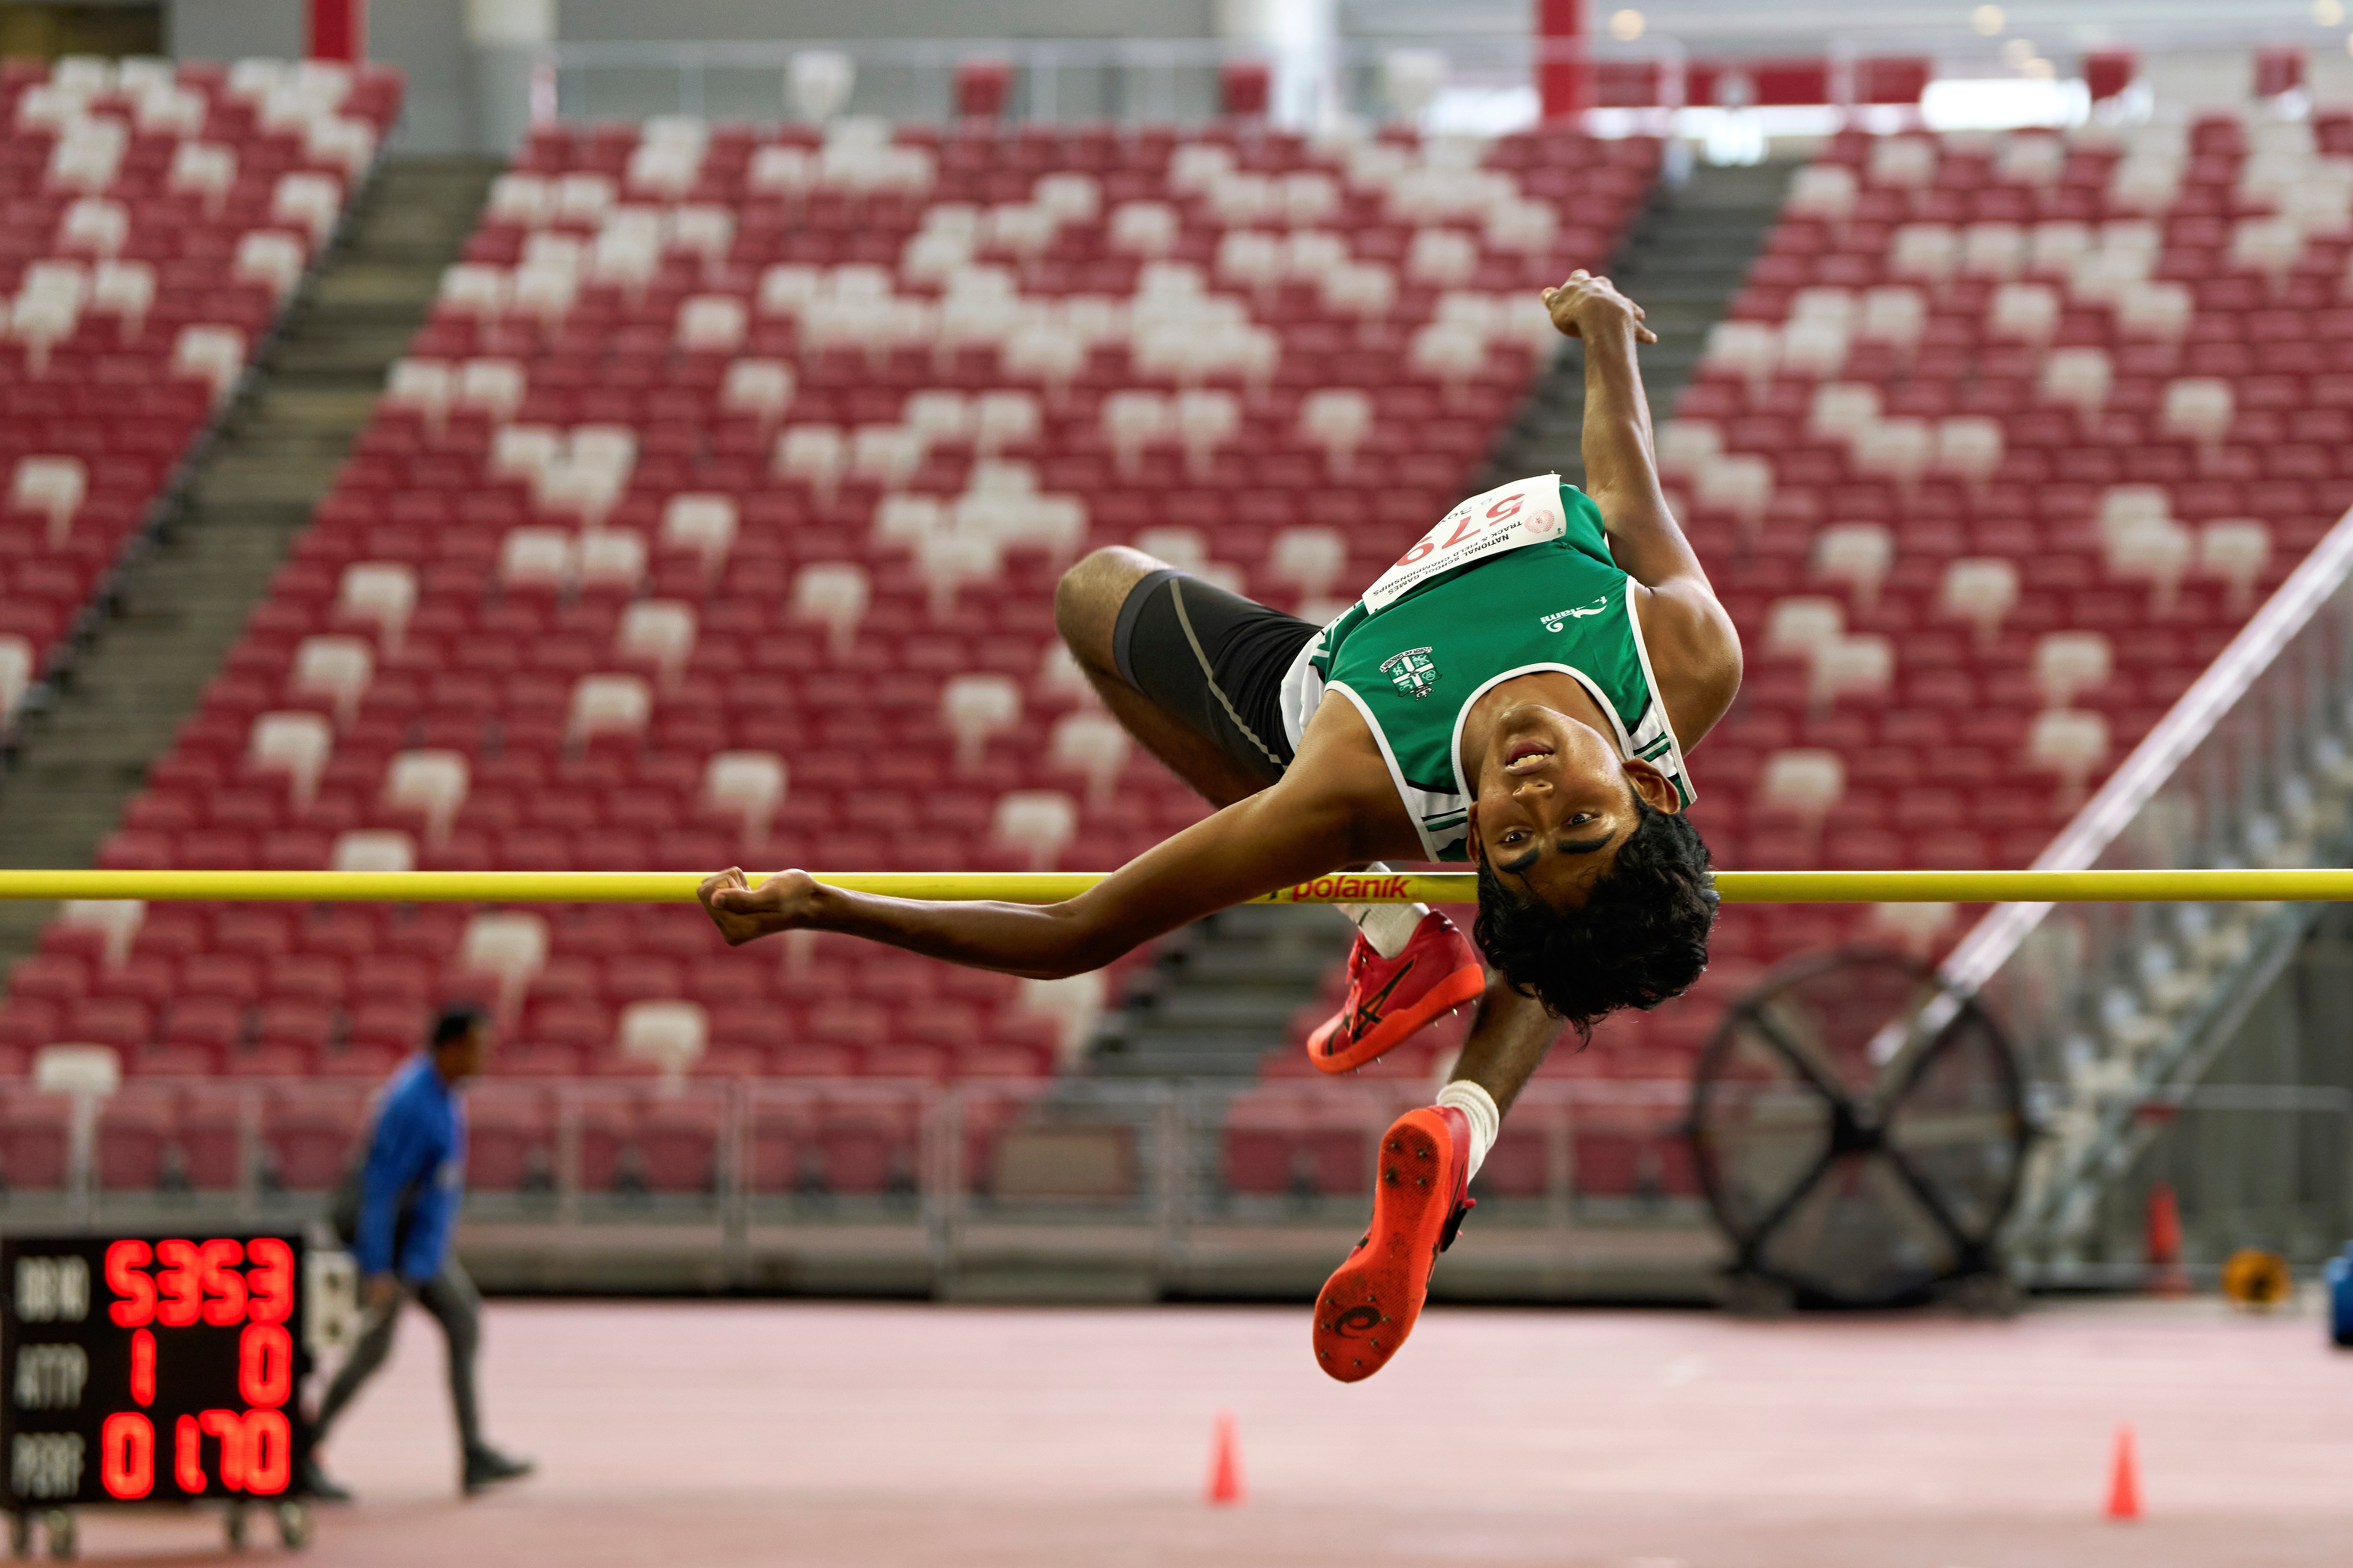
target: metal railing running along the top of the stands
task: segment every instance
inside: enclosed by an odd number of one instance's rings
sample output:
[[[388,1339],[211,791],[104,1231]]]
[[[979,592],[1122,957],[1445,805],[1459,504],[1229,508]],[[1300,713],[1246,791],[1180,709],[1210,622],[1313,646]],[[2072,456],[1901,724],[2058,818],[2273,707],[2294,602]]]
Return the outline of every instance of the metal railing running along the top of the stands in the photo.
[[[1955,19],[1960,12],[1955,12]],[[1299,129],[1339,120],[1421,122],[1438,132],[1494,134],[1534,120],[1539,99],[1602,110],[1598,127],[1619,134],[1701,134],[1720,113],[1762,108],[1774,134],[1821,134],[1821,110],[1866,110],[1892,129],[1918,115],[1925,85],[1991,85],[2035,113],[2075,118],[2089,96],[2059,87],[2087,71],[2094,52],[2129,52],[2132,87],[2106,82],[2113,115],[2146,115],[2155,101],[2224,103],[2273,94],[2249,75],[2252,52],[2311,52],[2325,33],[2297,24],[2228,19],[2167,24],[2141,19],[2104,31],[2099,45],[2059,42],[2047,52],[2017,31],[1981,35],[1965,26],[1920,26],[1892,14],[1835,33],[1814,14],[1682,16],[1673,33],[1614,31],[1593,38],[1532,38],[1522,31],[1445,35],[1329,35],[1287,45],[1242,38],[758,38],[682,42],[565,42],[532,52],[536,120],[828,120],[840,113],[885,120],[955,120],[965,108],[958,73],[988,68],[1000,103],[991,118],[1073,125],[1186,125],[1235,113],[1231,78],[1247,73],[1264,113]],[[2024,45],[2024,47],[2021,47]],[[2113,71],[2113,66],[2111,66]],[[1699,108],[1699,120],[1687,115]],[[1261,113],[1257,108],[1247,113]],[[2057,122],[2057,120],[2054,120]]]

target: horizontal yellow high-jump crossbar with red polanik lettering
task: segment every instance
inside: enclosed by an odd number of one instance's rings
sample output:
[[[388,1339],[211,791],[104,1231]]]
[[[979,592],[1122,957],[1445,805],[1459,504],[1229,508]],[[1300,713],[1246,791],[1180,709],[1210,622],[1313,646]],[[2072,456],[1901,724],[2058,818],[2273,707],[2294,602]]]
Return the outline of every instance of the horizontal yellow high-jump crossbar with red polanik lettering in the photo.
[[[753,877],[758,882],[758,877]],[[894,898],[1059,903],[1104,872],[816,872]],[[0,898],[694,903],[701,872],[12,872]],[[2353,870],[1718,872],[1725,903],[2353,903]],[[1475,903],[1471,872],[1332,875],[1259,903]]]

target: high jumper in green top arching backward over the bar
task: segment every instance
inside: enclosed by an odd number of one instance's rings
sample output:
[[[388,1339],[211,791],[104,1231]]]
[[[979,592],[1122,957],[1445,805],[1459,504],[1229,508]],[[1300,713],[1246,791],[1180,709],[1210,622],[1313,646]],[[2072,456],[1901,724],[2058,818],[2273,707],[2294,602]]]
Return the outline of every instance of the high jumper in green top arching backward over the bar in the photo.
[[[1412,1333],[1562,1025],[1657,1006],[1708,961],[1685,757],[1732,705],[1741,646],[1659,489],[1640,306],[1581,270],[1544,303],[1586,346],[1586,491],[1541,475],[1473,496],[1322,628],[1118,545],[1064,574],[1054,616],[1087,679],[1214,816],[1056,905],[880,898],[798,870],[704,882],[729,943],[819,929],[1052,978],[1341,867],[1473,863],[1492,973],[1445,914],[1344,905],[1348,997],[1308,1039],[1346,1072],[1478,1001],[1438,1103],[1384,1133],[1372,1225],[1315,1300],[1315,1359],[1344,1382]],[[873,788],[892,788],[887,757]],[[925,792],[904,804],[920,835]]]

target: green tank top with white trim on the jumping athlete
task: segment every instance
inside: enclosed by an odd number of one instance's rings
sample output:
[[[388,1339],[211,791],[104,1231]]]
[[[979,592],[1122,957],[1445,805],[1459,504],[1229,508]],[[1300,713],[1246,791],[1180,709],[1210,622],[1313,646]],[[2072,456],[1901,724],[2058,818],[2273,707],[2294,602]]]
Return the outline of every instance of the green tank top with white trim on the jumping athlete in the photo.
[[[1442,571],[1379,611],[1358,599],[1285,675],[1282,724],[1294,748],[1325,691],[1365,715],[1431,860],[1471,858],[1464,715],[1515,675],[1572,675],[1609,715],[1619,750],[1673,778],[1685,806],[1694,799],[1600,508],[1562,484],[1560,510],[1558,538]]]

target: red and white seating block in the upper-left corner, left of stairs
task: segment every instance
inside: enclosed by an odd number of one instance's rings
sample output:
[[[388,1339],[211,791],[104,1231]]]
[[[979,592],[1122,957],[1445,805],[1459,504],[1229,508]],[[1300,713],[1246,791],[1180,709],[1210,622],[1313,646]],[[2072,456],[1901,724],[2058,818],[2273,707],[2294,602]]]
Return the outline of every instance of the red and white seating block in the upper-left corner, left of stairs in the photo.
[[[0,71],[0,731],[341,221],[384,68]]]

